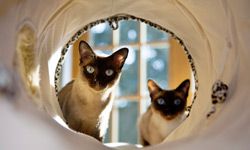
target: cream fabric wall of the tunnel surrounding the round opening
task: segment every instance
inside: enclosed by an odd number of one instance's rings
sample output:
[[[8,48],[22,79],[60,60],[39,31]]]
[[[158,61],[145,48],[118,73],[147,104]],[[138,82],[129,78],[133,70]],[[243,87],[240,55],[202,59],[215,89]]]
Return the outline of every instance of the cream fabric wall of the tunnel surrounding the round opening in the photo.
[[[197,73],[189,117],[163,143],[145,149],[249,149],[249,6],[248,0],[1,1],[0,149],[112,149],[52,119],[60,111],[48,61],[85,25],[119,14],[172,31],[188,49]],[[20,72],[27,66],[17,60],[17,49],[29,46],[34,55],[30,65],[39,70],[34,75],[40,78],[38,98],[24,88]],[[217,81],[228,86],[228,95],[207,118]],[[48,113],[34,107],[31,98]]]

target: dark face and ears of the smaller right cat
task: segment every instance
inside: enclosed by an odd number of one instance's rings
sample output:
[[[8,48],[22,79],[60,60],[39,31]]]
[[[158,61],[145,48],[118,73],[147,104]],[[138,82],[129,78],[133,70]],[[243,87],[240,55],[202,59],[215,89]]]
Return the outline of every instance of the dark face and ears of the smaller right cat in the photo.
[[[163,90],[153,80],[148,80],[152,107],[167,120],[173,119],[185,110],[189,86],[187,79],[174,90]]]

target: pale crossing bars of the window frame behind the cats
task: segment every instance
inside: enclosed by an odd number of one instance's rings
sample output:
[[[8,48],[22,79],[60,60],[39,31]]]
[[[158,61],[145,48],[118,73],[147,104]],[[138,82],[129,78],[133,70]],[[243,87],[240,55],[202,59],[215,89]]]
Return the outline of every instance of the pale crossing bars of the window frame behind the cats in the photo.
[[[124,20],[127,21],[127,20]],[[117,28],[116,30],[111,30],[112,32],[112,43],[111,45],[105,45],[105,46],[95,46],[93,45],[92,48],[94,50],[98,49],[98,50],[106,50],[106,49],[110,49],[112,50],[112,52],[114,50],[116,50],[118,47],[122,47],[122,46],[130,46],[132,48],[138,48],[138,53],[139,53],[139,63],[138,63],[138,69],[139,69],[139,73],[138,73],[138,89],[137,89],[137,94],[136,95],[129,95],[129,96],[119,96],[119,97],[115,97],[116,101],[119,100],[124,100],[126,99],[127,101],[136,101],[138,102],[138,116],[137,118],[143,114],[146,111],[146,107],[145,107],[145,99],[148,98],[148,95],[142,95],[143,93],[143,87],[146,87],[146,62],[143,61],[142,59],[142,49],[144,46],[152,46],[152,47],[163,47],[163,46],[168,46],[169,45],[169,39],[167,38],[166,40],[155,40],[155,41],[147,41],[147,26],[150,27],[148,24],[145,24],[143,22],[139,22],[136,21],[139,24],[139,38],[138,38],[138,42],[134,42],[134,43],[127,43],[127,44],[120,44],[120,29],[121,27]],[[155,28],[155,30],[158,30]],[[163,32],[163,31],[161,31]],[[88,41],[89,43],[91,38],[90,35],[91,32],[87,32],[84,36],[84,40]],[[165,33],[167,34],[167,33]],[[166,59],[168,56],[166,56]],[[168,64],[166,65],[168,68]],[[166,75],[166,81],[168,81],[168,77]],[[119,142],[119,108],[116,105],[113,105],[112,108],[112,112],[111,112],[111,118],[110,118],[110,141],[111,143],[113,142]],[[139,137],[137,137],[137,143],[139,143]]]

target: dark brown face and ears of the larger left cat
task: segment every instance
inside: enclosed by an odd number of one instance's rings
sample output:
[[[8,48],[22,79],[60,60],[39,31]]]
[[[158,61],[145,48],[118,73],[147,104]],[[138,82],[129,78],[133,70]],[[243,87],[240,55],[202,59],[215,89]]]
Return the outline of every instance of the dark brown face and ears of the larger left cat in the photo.
[[[128,55],[122,48],[108,57],[97,56],[84,41],[79,44],[81,75],[96,91],[112,87],[118,80]]]

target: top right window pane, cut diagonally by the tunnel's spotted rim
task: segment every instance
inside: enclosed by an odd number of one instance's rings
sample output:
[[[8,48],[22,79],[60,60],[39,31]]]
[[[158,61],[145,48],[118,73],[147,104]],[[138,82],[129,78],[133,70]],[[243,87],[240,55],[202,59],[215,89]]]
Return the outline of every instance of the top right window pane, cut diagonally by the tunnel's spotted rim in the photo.
[[[147,42],[167,40],[167,33],[147,25]]]

